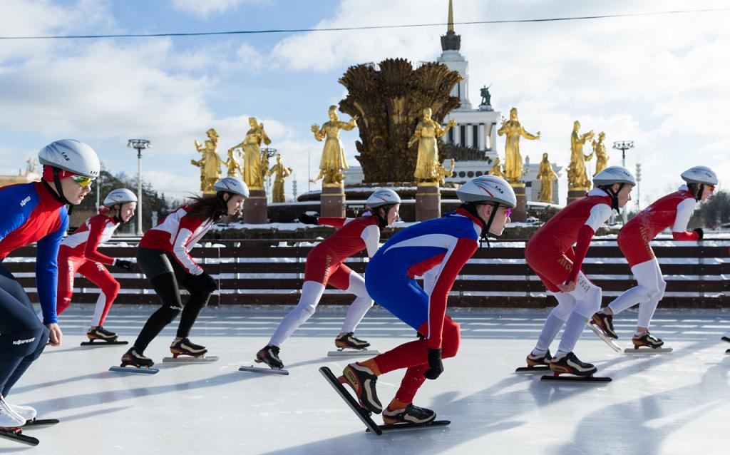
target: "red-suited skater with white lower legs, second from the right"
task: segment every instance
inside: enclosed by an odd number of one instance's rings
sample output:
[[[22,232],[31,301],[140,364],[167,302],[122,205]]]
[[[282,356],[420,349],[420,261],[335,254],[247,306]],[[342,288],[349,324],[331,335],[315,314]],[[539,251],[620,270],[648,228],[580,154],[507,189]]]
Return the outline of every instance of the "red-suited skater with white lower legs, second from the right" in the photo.
[[[548,292],[558,300],[539,334],[537,345],[527,356],[530,367],[547,365],[557,374],[591,376],[593,364],[581,362],[573,348],[585,328],[585,321],[601,307],[601,288],[580,270],[596,230],[631,200],[636,179],[627,169],[611,166],[593,177],[593,189],[571,202],[535,232],[525,247],[527,264],[539,276]],[[573,248],[575,245],[575,249]],[[556,355],[553,343],[565,325]]]

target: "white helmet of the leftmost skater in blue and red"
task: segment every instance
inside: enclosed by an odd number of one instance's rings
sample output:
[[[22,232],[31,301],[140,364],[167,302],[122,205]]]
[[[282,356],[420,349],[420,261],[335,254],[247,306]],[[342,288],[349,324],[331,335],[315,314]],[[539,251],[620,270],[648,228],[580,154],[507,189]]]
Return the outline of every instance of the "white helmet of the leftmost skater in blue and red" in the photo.
[[[99,156],[93,148],[75,139],[51,142],[38,153],[38,161],[82,177],[99,177]]]

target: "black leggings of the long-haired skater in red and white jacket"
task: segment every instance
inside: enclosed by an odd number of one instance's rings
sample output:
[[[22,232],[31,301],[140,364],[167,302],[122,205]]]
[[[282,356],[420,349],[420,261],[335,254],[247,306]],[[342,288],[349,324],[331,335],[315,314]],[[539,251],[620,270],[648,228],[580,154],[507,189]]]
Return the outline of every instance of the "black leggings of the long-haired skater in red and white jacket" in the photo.
[[[210,299],[210,294],[215,291],[215,286],[211,286],[207,280],[202,280],[201,275],[188,273],[174,257],[165,251],[139,248],[137,263],[142,272],[147,275],[162,302],[162,307],[147,319],[142,332],[139,332],[139,336],[134,342],[134,349],[138,353],[143,353],[147,349],[147,345],[162,332],[167,324],[174,321],[180,311],[183,312],[183,316],[180,317],[180,325],[177,326],[177,337],[188,337],[200,311],[205,305],[208,305],[208,299]],[[184,305],[180,299],[180,286],[190,293]]]

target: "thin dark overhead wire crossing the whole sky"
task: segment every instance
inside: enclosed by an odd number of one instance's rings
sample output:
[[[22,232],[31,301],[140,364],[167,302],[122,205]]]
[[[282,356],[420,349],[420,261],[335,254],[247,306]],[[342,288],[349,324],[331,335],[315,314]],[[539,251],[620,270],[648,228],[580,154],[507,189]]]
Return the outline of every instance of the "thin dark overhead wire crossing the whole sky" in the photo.
[[[685,9],[677,11],[658,12],[634,12],[614,15],[592,15],[592,16],[571,16],[566,18],[537,18],[537,19],[495,19],[475,20],[471,22],[455,22],[457,26],[474,26],[483,24],[501,23],[540,23],[540,22],[564,22],[568,20],[595,20],[615,18],[636,18],[642,16],[678,15],[699,12],[723,12],[730,11],[728,8],[717,9]],[[331,27],[331,28],[272,28],[266,30],[233,30],[233,31],[198,31],[178,33],[150,33],[150,34],[98,34],[98,35],[43,35],[36,37],[0,37],[0,39],[99,39],[99,38],[159,38],[159,37],[210,37],[218,35],[245,35],[245,34],[275,34],[275,33],[305,33],[310,31],[353,31],[353,30],[382,30],[385,28],[418,28],[418,27],[442,27],[447,23],[417,23],[401,24],[395,26],[361,26],[361,27]]]

